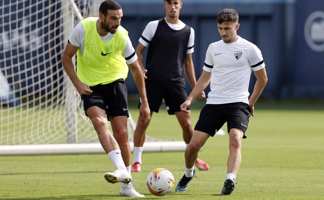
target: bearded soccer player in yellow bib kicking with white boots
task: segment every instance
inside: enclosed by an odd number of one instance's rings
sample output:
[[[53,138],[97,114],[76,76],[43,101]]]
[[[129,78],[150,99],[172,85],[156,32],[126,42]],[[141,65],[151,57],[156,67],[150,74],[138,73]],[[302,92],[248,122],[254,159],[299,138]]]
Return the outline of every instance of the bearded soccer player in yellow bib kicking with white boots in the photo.
[[[127,134],[127,89],[124,79],[129,65],[142,105],[140,112],[150,120],[144,76],[137,55],[120,26],[121,6],[106,0],[99,7],[99,18],[86,18],[78,23],[66,45],[62,64],[81,95],[82,106],[98,133],[99,141],[116,170],[104,174],[111,183],[121,182],[121,196],[144,197],[131,181],[131,149]],[[72,57],[77,53],[77,73]],[[127,63],[127,64],[126,64]],[[107,118],[106,118],[107,115]],[[113,135],[110,134],[108,121]]]

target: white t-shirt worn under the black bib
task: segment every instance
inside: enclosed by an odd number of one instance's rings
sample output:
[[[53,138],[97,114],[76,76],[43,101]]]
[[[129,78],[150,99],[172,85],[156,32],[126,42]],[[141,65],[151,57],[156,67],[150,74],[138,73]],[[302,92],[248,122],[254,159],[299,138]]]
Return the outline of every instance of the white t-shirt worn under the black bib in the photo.
[[[167,22],[166,18],[164,18],[164,20],[165,20],[165,22]],[[159,20],[150,21],[146,25],[145,29],[143,30],[142,37],[144,37],[148,41],[152,41],[158,24],[159,24]],[[180,20],[179,20],[179,24],[170,24],[169,22],[167,22],[167,24],[173,30],[181,30],[186,26],[186,24]],[[142,37],[140,37],[140,39],[138,41],[141,44],[143,44],[143,46],[147,47],[149,45],[149,43],[146,42]],[[193,28],[190,27],[190,36],[189,36],[187,53],[193,53],[194,43],[195,43],[195,31],[193,30]]]

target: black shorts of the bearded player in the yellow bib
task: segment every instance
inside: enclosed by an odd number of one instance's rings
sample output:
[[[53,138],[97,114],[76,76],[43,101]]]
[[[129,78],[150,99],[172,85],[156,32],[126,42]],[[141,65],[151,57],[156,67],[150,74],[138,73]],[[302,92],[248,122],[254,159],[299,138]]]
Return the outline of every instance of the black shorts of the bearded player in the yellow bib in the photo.
[[[91,86],[93,91],[90,95],[81,95],[82,107],[87,115],[87,109],[98,106],[106,111],[107,116],[127,116],[127,89],[124,79],[114,82]],[[87,115],[88,116],[88,115]],[[109,117],[107,117],[108,121]]]

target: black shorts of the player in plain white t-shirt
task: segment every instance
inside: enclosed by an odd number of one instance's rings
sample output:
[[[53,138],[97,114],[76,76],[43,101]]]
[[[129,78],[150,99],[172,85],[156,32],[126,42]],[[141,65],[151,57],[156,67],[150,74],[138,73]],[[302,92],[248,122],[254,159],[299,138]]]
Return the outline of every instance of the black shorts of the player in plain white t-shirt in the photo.
[[[227,132],[232,128],[243,131],[243,138],[246,138],[245,131],[248,129],[251,108],[243,102],[225,104],[206,104],[200,112],[194,130],[208,133],[214,136],[227,122]]]

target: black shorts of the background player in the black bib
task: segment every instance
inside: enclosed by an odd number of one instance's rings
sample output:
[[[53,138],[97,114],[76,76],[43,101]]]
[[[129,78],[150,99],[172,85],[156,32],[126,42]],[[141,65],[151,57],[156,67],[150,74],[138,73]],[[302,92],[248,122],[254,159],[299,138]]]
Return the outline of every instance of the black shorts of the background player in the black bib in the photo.
[[[168,114],[180,112],[180,105],[187,100],[187,92],[184,84],[165,84],[145,80],[146,95],[148,105],[151,111],[159,112],[162,100],[167,106]],[[138,108],[141,106],[141,99]],[[187,108],[190,110],[190,108]]]

